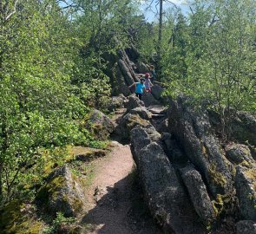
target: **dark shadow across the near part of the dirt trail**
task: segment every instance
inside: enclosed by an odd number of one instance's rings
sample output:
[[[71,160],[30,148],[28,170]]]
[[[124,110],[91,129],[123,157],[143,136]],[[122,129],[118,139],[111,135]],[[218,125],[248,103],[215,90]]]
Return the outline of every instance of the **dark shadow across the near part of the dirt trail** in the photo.
[[[161,233],[143,203],[136,178],[134,171],[113,187],[95,188],[95,207],[82,218],[82,233]]]

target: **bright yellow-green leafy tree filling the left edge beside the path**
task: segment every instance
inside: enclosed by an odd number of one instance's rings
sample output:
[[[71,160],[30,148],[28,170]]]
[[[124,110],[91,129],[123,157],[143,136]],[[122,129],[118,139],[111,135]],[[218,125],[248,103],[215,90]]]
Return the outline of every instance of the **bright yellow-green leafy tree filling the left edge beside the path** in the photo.
[[[56,2],[2,1],[0,13],[3,202],[18,194],[19,181],[39,160],[43,147],[64,146],[82,137],[74,119],[84,107],[70,92],[72,37]]]

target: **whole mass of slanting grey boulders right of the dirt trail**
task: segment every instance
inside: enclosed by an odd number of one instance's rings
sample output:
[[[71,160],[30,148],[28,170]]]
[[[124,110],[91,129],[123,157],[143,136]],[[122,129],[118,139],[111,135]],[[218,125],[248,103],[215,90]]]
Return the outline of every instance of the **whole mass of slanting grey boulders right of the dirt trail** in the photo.
[[[134,63],[120,55],[126,61],[120,64],[130,66],[121,72],[136,78],[135,70],[129,71]],[[162,89],[154,88],[154,100],[161,101]],[[155,220],[177,234],[235,233],[236,223],[237,233],[254,230],[255,116],[237,113],[228,128],[229,139],[223,140],[218,114],[196,109],[182,96],[169,101],[167,112],[154,114],[150,105],[155,103],[147,95],[144,99],[141,103],[128,98],[128,110],[114,133],[131,142],[145,201]]]

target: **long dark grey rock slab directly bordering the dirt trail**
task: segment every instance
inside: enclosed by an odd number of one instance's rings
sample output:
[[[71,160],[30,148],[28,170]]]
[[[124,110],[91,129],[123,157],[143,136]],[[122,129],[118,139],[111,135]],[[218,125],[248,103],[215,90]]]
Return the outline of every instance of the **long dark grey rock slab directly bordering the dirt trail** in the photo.
[[[141,127],[131,131],[131,146],[146,203],[155,220],[168,233],[206,233],[161,146]]]

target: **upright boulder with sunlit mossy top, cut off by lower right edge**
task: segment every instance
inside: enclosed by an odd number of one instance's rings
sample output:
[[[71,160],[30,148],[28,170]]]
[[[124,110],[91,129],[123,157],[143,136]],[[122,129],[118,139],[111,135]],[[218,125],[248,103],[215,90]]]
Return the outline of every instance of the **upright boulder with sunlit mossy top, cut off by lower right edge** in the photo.
[[[235,187],[239,198],[240,215],[256,221],[256,166],[236,167]]]

